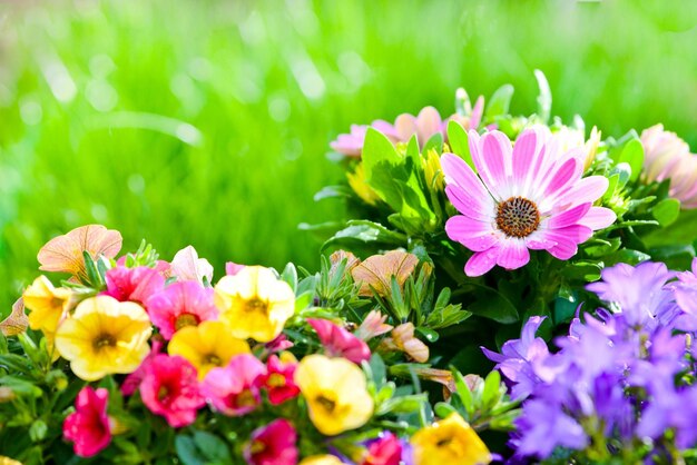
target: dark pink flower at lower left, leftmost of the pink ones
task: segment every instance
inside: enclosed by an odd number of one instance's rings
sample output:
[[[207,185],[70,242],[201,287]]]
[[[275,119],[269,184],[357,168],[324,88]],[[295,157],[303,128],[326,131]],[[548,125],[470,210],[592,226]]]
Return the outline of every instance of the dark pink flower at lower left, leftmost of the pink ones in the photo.
[[[111,427],[107,415],[109,393],[104,387],[95,390],[85,386],[75,403],[76,412],[63,422],[63,436],[72,441],[80,457],[91,457],[111,442]]]

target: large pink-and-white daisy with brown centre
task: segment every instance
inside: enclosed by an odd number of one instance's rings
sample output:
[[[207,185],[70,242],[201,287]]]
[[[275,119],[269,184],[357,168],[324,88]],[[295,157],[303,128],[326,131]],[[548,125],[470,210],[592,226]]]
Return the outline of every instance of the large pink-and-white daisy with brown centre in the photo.
[[[580,152],[559,154],[549,130],[523,131],[514,148],[500,131],[469,137],[479,176],[453,154],[441,158],[445,194],[462,214],[448,220],[445,231],[474,251],[464,267],[468,276],[495,265],[520,268],[530,260],[529,249],[568,260],[593,230],[617,218],[592,205],[607,190],[607,178],[581,179]]]

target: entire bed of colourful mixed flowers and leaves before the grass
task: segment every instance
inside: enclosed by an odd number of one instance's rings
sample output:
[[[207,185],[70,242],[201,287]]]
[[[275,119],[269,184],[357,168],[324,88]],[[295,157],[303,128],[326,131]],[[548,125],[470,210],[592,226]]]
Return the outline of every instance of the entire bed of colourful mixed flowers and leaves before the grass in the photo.
[[[693,457],[697,157],[660,126],[550,123],[536,76],[529,117],[510,86],[459,90],[444,120],[338,136],[347,182],[316,199],[353,219],[305,226],[318,273],[214,279],[190,246],[119,256],[99,225],[50,240],[0,326],[0,461]]]

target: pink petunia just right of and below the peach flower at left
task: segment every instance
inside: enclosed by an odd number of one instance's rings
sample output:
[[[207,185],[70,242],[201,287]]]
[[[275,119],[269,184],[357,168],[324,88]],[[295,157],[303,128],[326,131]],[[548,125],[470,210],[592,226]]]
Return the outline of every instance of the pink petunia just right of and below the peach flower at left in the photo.
[[[119,301],[136,301],[144,306],[153,294],[165,288],[165,277],[156,268],[145,266],[136,268],[117,266],[107,271],[106,280],[107,290],[102,291],[102,295],[111,296]]]

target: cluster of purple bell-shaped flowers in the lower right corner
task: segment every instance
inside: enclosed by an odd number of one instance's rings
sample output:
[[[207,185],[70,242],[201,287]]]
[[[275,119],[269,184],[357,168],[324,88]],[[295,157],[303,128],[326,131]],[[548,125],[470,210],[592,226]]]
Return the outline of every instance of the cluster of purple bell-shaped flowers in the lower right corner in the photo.
[[[567,454],[670,461],[697,443],[697,259],[673,273],[660,263],[619,264],[588,286],[607,305],[577,316],[550,353],[530,318],[501,354],[483,349],[523,399],[511,446],[517,458]],[[652,445],[652,447],[646,447]]]

